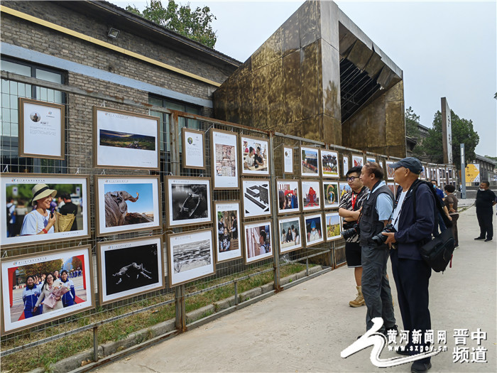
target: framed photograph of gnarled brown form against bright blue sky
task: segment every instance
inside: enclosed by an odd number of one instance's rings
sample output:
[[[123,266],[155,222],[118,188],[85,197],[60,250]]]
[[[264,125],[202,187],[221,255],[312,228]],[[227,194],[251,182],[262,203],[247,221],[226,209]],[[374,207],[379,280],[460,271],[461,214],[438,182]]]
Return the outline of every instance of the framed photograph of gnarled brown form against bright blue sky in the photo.
[[[99,175],[95,184],[97,234],[160,227],[159,176]]]

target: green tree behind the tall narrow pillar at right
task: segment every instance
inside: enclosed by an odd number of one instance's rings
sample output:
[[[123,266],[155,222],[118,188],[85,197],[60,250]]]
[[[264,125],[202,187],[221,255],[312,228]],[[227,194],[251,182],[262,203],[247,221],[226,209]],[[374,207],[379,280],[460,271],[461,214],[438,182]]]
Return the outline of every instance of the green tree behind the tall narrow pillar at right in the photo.
[[[473,129],[473,121],[459,118],[452,110],[450,111],[452,122],[452,158],[459,170],[461,168],[461,144],[464,143],[464,159],[471,161],[476,158],[474,152],[480,141],[478,133]],[[433,163],[444,163],[442,146],[442,113],[438,110],[433,119],[433,128],[428,130],[428,136],[422,141],[417,149],[418,156]],[[466,165],[465,165],[466,166]]]

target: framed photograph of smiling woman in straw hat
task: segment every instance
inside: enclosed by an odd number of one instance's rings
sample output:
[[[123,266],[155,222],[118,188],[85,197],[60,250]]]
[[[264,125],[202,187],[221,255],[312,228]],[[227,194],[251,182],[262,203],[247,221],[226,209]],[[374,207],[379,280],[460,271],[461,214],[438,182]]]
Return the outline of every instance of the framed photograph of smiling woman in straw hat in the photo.
[[[0,175],[1,247],[90,237],[89,176]]]

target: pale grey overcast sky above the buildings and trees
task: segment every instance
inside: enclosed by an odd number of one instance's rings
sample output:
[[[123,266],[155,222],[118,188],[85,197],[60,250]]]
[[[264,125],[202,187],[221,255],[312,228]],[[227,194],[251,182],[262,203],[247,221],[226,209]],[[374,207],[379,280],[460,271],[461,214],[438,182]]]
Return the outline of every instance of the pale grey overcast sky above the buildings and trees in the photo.
[[[440,98],[447,97],[459,117],[473,121],[480,136],[476,153],[497,156],[496,0],[336,2],[403,70],[405,107],[413,107],[421,124],[432,126]],[[192,8],[207,5],[217,17],[215,49],[242,62],[302,3],[190,0]]]

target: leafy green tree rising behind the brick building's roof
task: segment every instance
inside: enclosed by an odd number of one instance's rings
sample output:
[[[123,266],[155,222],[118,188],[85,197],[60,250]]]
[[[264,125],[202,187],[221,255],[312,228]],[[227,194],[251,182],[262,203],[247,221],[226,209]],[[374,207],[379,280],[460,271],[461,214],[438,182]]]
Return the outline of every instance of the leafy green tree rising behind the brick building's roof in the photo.
[[[151,0],[143,13],[134,4],[126,6],[126,10],[180,33],[182,36],[197,40],[209,48],[214,48],[216,44],[217,36],[212,31],[211,25],[216,17],[210,13],[209,6],[203,8],[197,6],[194,11],[190,8],[190,4],[178,6],[174,0],[168,0],[168,6],[164,8],[160,0]]]

